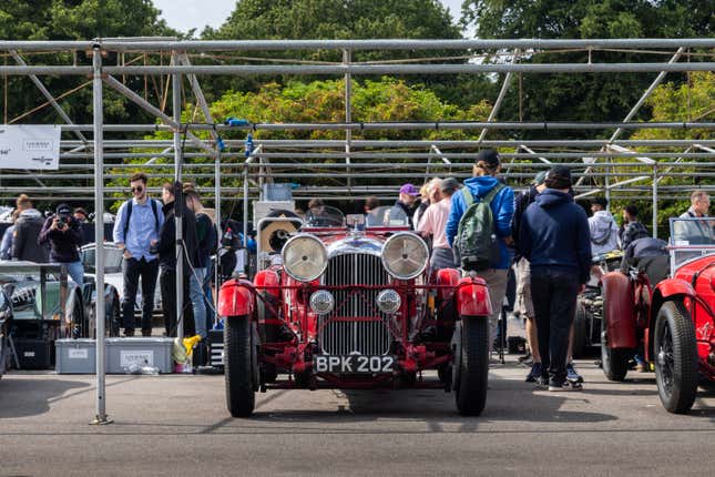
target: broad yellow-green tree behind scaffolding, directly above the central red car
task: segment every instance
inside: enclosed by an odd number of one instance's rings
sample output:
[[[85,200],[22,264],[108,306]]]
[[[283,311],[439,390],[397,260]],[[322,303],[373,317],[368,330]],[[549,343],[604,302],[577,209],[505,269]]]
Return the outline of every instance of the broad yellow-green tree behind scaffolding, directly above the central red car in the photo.
[[[339,122],[343,121],[345,111],[345,82],[341,80],[313,81],[309,83],[293,81],[286,85],[269,83],[256,92],[225,93],[218,101],[211,104],[211,112],[214,118],[241,118],[252,123],[294,123],[294,122]],[[355,121],[483,121],[489,115],[491,104],[487,102],[477,103],[468,109],[448,103],[439,99],[433,91],[422,85],[408,84],[405,81],[382,78],[379,81],[364,80],[354,81],[353,84],[353,118]],[[183,112],[183,122],[202,122],[204,118],[195,105],[190,104]],[[197,133],[207,138],[207,132]],[[330,140],[345,139],[344,131],[266,131],[257,130],[253,133],[254,139],[300,139],[300,140]],[[476,139],[479,131],[364,131],[355,132],[354,140],[445,140],[445,139]],[[171,139],[168,132],[157,132],[145,139]],[[245,131],[229,131],[224,139],[246,138]],[[311,152],[328,152],[311,149]],[[329,151],[335,151],[329,150]],[[159,152],[159,150],[144,150],[144,152]],[[228,151],[239,152],[239,151]],[[136,163],[136,170],[145,160],[127,160],[126,163]],[[210,158],[187,158],[190,163],[211,163]],[[305,169],[292,170],[290,172],[303,172],[315,174],[310,179],[296,179],[296,182],[321,185],[334,183],[329,175],[333,171],[316,169],[315,163],[320,160],[300,160]],[[365,160],[360,160],[365,161]],[[380,159],[374,160],[380,163]],[[231,162],[243,162],[243,158],[225,158],[224,164]],[[419,162],[423,162],[420,160]],[[152,171],[151,185],[160,185],[165,179],[173,175],[173,159],[159,160],[155,163],[166,164],[165,169]],[[132,171],[116,170],[115,173],[129,174]],[[188,175],[188,174],[187,174]],[[356,179],[355,185],[371,184],[371,179]],[[400,180],[396,180],[400,181]],[[211,179],[197,180],[200,186],[213,187]],[[113,185],[120,185],[118,181]],[[241,185],[236,177],[224,177],[222,184],[226,187]],[[123,185],[123,184],[121,184]],[[115,203],[118,206],[121,202]]]

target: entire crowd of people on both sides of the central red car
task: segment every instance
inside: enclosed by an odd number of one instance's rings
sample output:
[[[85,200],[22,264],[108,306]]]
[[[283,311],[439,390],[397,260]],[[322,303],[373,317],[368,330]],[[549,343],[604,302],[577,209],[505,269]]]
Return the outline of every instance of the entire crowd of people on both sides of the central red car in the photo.
[[[581,389],[582,377],[571,359],[573,316],[576,296],[592,270],[592,256],[616,248],[624,251],[623,263],[662,253],[665,242],[652,238],[639,221],[633,204],[623,210],[619,227],[603,197],[591,201],[592,215],[573,200],[571,171],[563,165],[537,174],[531,186],[514,196],[500,177],[499,153],[479,153],[472,177],[460,184],[453,177],[435,177],[421,189],[404,184],[395,203],[410,227],[431,244],[430,270],[461,267],[482,277],[489,286],[493,314],[489,317],[490,343],[507,294],[508,274],[517,281],[515,313],[527,318],[527,341],[533,365],[527,376],[552,390]],[[141,333],[152,334],[153,296],[159,281],[164,306],[166,336],[175,336],[177,309],[177,255],[175,223],[183,230],[185,334],[202,338],[214,321],[211,256],[217,248],[217,230],[212,211],[206,210],[191,183],[164,183],[161,202],[147,193],[147,176],[130,177],[132,197],[119,207],[113,241],[123,253],[124,293],[122,322],[124,336],[134,336],[134,308],[141,280]],[[176,196],[183,200],[180,204]],[[379,205],[377,197],[365,203],[369,214]],[[309,207],[323,206],[311,202]],[[707,216],[709,196],[695,191],[691,207],[682,217]],[[0,244],[3,260],[65,265],[72,281],[83,283],[79,255],[80,224],[89,216],[83,209],[60,204],[44,217],[24,194],[16,203],[13,224]],[[481,241],[481,242],[480,242]],[[479,250],[488,250],[486,256]],[[637,359],[637,356],[636,356]]]

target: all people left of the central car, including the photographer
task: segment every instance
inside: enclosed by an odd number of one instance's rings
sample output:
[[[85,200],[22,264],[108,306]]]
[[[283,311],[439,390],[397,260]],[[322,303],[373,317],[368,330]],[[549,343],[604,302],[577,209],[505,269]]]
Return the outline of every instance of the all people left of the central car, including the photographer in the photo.
[[[136,173],[130,177],[132,199],[119,207],[113,227],[113,241],[122,251],[122,325],[124,336],[134,336],[134,308],[141,283],[142,336],[152,335],[152,314],[156,283],[160,283],[162,312],[166,336],[176,336],[176,237],[174,216],[183,227],[185,335],[205,338],[213,326],[213,276],[211,256],[217,246],[218,233],[213,211],[205,209],[191,183],[162,186],[162,201],[149,196],[147,176]],[[176,191],[176,187],[180,191]],[[176,192],[184,197],[176,206]],[[53,263],[65,266],[69,277],[84,283],[84,267],[80,256],[83,244],[81,224],[89,214],[82,207],[72,210],[67,203],[58,205],[45,217],[34,209],[24,194],[16,201],[13,223],[6,230],[0,245],[1,260]]]

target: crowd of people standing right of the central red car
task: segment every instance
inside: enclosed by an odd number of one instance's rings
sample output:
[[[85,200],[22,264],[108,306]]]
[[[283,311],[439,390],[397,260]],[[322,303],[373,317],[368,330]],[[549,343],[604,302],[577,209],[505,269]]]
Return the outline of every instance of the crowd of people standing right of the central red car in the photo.
[[[514,311],[527,318],[533,361],[527,380],[550,390],[580,390],[583,378],[573,366],[571,351],[573,317],[576,297],[591,276],[592,257],[623,250],[625,266],[634,257],[663,253],[666,243],[651,237],[634,204],[623,210],[619,226],[607,210],[607,201],[594,197],[589,217],[574,202],[571,171],[563,165],[537,174],[531,186],[517,196],[499,176],[500,171],[499,154],[482,151],[473,176],[463,185],[451,177],[432,179],[422,189],[404,184],[396,206],[410,217],[416,232],[431,241],[430,268],[459,266],[487,282],[493,309],[489,317],[492,344],[507,293],[508,271],[513,267]],[[372,202],[366,204],[366,212],[377,206]],[[490,226],[479,221],[482,202],[489,205]],[[487,207],[481,213],[483,209]],[[681,217],[707,216],[708,211],[709,196],[698,190]],[[477,226],[463,227],[466,219]],[[491,234],[496,241],[487,264],[483,260],[470,262],[471,252],[466,252],[470,245],[464,235],[480,233]],[[637,355],[635,358],[639,362]]]

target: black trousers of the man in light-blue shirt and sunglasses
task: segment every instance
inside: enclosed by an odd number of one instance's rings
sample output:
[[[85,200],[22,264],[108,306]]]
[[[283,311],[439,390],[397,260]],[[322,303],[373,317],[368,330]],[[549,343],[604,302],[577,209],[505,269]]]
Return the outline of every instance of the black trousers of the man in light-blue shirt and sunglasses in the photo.
[[[134,305],[136,304],[136,288],[139,287],[139,278],[141,277],[142,331],[151,331],[159,260],[146,262],[144,258],[125,258],[122,265],[122,272],[124,274],[124,298],[122,301],[124,329],[133,331],[135,327]]]

